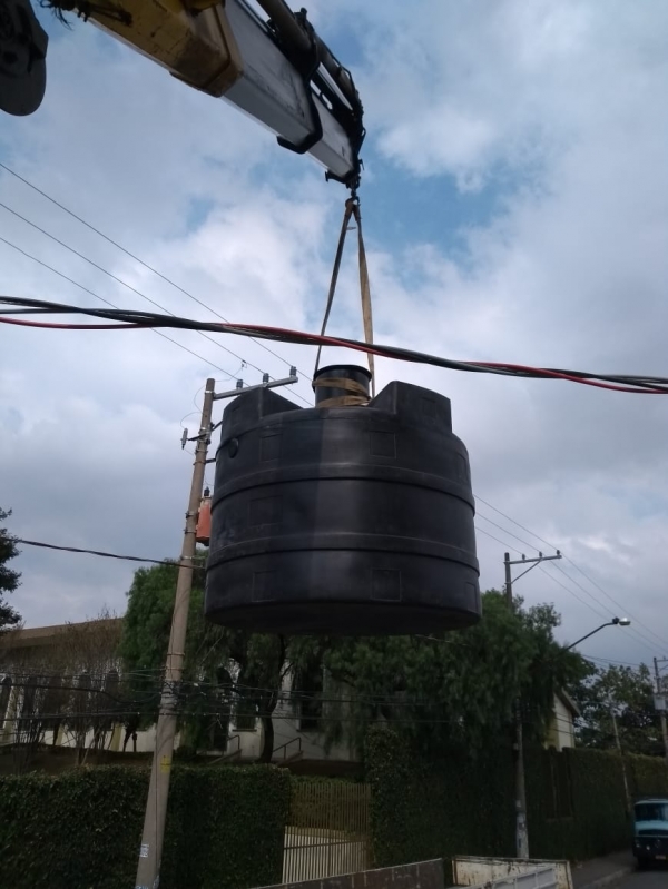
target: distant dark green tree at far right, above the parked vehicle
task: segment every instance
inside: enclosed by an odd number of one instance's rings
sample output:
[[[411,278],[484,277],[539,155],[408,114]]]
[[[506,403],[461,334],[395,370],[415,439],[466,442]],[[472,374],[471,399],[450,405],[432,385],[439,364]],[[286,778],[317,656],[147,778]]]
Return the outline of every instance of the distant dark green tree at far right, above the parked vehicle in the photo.
[[[590,675],[573,691],[582,713],[577,734],[584,747],[617,747],[612,712],[625,753],[660,757],[664,742],[659,714],[654,705],[654,684],[646,664],[591,668]]]

